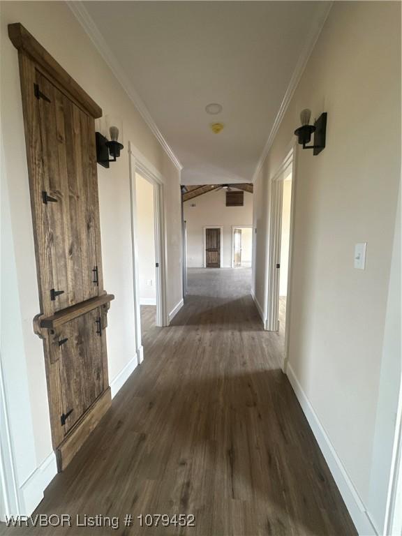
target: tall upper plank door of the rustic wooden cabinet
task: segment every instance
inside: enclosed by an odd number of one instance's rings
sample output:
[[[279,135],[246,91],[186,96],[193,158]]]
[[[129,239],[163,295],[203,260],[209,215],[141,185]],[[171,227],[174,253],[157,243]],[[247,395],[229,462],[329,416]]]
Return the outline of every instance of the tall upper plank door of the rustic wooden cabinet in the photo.
[[[36,84],[43,94],[36,104],[52,281],[52,288],[43,290],[59,311],[98,295],[94,119],[38,71]]]

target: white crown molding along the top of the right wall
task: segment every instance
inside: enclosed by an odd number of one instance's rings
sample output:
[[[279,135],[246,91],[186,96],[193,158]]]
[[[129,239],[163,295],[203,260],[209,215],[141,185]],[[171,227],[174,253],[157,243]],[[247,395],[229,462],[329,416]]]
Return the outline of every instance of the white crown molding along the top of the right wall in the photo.
[[[265,158],[267,158],[268,156],[269,149],[271,149],[276,133],[278,133],[278,130],[279,130],[279,127],[281,126],[281,122],[283,120],[285,112],[286,110],[288,110],[289,103],[292,100],[293,94],[295,93],[297,84],[299,84],[301,75],[303,75],[304,73],[304,69],[306,68],[307,61],[311,56],[311,52],[313,52],[314,50],[315,43],[317,43],[318,37],[320,36],[320,33],[322,31],[322,27],[324,27],[325,21],[327,20],[329,11],[331,10],[333,3],[334,1],[328,2],[327,8],[322,12],[322,15],[318,17],[317,21],[315,22],[315,24],[313,24],[313,27],[311,28],[308,34],[306,43],[301,50],[299,59],[297,60],[295,70],[293,71],[292,77],[290,78],[288,88],[285,91],[285,96],[283,97],[281,106],[279,107],[278,113],[276,114],[274,125],[271,128],[271,132],[269,133],[269,137],[265,144],[265,147],[264,149],[262,149],[260,160],[258,161],[257,167],[255,168],[255,172],[253,174],[252,182],[255,182],[255,179],[257,179],[258,174],[260,173],[262,166],[264,165]]]

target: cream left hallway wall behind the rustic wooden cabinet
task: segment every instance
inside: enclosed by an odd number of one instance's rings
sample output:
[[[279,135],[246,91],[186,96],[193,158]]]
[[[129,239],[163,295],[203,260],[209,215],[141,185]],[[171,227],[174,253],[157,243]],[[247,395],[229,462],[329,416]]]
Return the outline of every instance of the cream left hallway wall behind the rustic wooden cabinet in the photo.
[[[109,170],[98,166],[101,241],[105,289],[116,299],[108,316],[109,378],[136,363],[131,254],[131,196],[128,141],[161,172],[165,181],[168,311],[181,300],[180,173],[110,68],[64,2],[1,3],[1,360],[11,415],[17,484],[37,483],[36,496],[25,498],[30,513],[41,498],[42,474],[36,469],[52,453],[42,343],[32,319],[40,312],[31,223],[27,158],[17,50],[7,25],[21,22],[103,108],[123,124],[124,151]],[[128,367],[128,368],[127,368]],[[47,463],[47,462],[46,462]],[[49,467],[49,466],[47,466]],[[31,475],[31,477],[30,477]],[[30,479],[29,479],[30,477]],[[22,500],[25,500],[22,497]],[[34,504],[36,502],[36,504]]]

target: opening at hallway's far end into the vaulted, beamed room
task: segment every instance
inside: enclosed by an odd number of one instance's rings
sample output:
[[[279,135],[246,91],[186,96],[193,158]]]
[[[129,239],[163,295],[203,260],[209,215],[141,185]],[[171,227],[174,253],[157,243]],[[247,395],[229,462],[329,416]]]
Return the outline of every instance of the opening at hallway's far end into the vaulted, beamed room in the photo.
[[[241,193],[232,202],[232,195]],[[253,237],[253,184],[181,186],[183,251],[186,254],[186,296],[238,297],[251,293]],[[236,237],[234,237],[236,234]],[[236,265],[234,268],[234,241]],[[241,250],[241,251],[240,251]],[[205,281],[209,281],[207,288]],[[201,307],[201,301],[198,302]]]

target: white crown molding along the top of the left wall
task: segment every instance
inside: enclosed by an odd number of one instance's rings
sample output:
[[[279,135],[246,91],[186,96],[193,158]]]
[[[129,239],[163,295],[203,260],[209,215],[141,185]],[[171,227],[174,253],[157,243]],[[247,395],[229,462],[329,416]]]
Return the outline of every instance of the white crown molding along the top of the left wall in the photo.
[[[128,77],[124,73],[123,68],[121,68],[119,61],[110,50],[91,15],[89,15],[87,9],[82,4],[82,1],[68,1],[66,2],[66,4],[75,15],[78,22],[80,22],[82,28],[89,36],[92,43],[94,43],[96,49],[105,60],[107,66],[109,66],[110,70],[117,78],[118,82],[121,84],[121,87],[123,87],[124,91],[126,91],[126,94],[130,98],[131,102],[133,103],[133,105],[135,105],[138,112],[140,112],[142,119],[144,119],[145,123],[151,129],[152,133],[154,133],[156,139],[161,144],[166,154],[168,154],[170,160],[174,163],[176,168],[181,171],[183,169],[183,166],[181,165],[179,159],[174,154],[172,148],[163,137],[154,119],[151,117],[147,106],[144,104],[144,101],[142,101],[142,98],[137,94],[137,91],[135,91],[133,84],[131,84],[130,80],[128,80]]]

